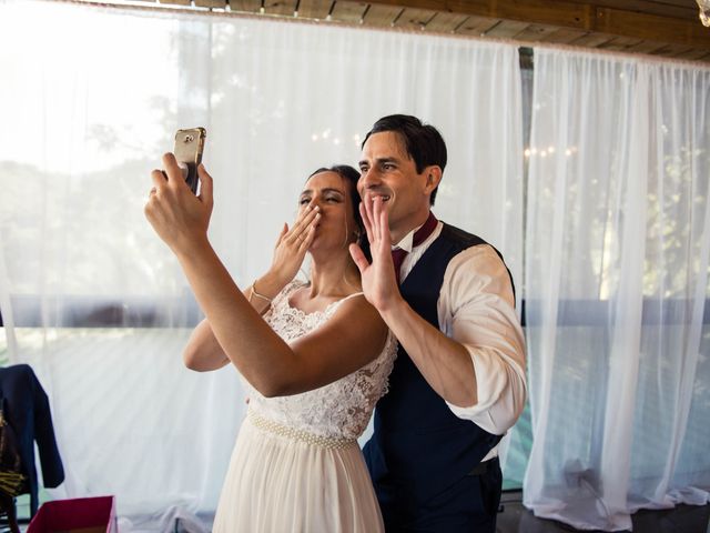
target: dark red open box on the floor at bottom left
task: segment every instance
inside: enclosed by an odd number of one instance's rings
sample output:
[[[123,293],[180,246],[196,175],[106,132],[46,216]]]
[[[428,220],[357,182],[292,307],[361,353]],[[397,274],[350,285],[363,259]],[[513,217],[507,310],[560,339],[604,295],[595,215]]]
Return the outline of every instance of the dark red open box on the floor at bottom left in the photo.
[[[77,497],[43,503],[27,533],[118,533],[113,496]]]

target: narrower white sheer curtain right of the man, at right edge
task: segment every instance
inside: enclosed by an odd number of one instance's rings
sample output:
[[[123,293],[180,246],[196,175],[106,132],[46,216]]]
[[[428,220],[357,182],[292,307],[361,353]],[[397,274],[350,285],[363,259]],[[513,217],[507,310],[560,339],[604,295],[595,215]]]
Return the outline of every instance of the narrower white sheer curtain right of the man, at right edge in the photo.
[[[535,49],[525,504],[579,529],[710,497],[710,69]]]

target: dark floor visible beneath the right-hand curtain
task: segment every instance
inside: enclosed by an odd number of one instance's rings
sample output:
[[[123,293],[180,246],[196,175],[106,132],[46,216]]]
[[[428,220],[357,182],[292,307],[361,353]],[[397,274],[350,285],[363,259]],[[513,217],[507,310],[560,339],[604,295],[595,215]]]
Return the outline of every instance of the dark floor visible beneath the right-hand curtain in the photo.
[[[503,513],[498,514],[498,533],[560,533],[579,531],[567,524],[537,519],[521,503],[523,493],[503,494]],[[710,505],[679,505],[669,511],[639,511],[631,521],[633,533],[710,533]],[[594,532],[592,532],[594,533]]]

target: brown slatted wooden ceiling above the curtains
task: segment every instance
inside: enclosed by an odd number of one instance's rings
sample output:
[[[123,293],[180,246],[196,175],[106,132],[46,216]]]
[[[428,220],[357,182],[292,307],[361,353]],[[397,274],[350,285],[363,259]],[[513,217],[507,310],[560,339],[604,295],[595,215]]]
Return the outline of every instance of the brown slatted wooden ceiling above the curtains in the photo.
[[[1,1],[1,0],[0,0]],[[158,0],[140,0],[156,4]],[[262,3],[263,2],[263,3]],[[161,0],[175,7],[191,0]],[[224,9],[227,0],[194,0]],[[232,11],[556,42],[710,62],[710,30],[693,0],[229,0]],[[263,10],[262,10],[263,6]]]

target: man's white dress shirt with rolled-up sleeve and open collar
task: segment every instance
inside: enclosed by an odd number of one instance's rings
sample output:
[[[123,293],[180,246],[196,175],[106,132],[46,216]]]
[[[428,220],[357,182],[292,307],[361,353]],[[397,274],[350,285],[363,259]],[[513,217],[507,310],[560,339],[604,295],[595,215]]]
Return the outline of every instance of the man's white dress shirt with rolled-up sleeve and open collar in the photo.
[[[396,248],[407,250],[399,270],[404,282],[424,252],[442,233],[434,232],[414,248],[412,230]],[[503,435],[518,420],[525,406],[525,336],[515,312],[508,271],[489,245],[470,247],[449,261],[437,301],[439,330],[470,354],[476,372],[478,402],[457,406],[447,402],[459,419]],[[497,455],[491,450],[484,461]]]

